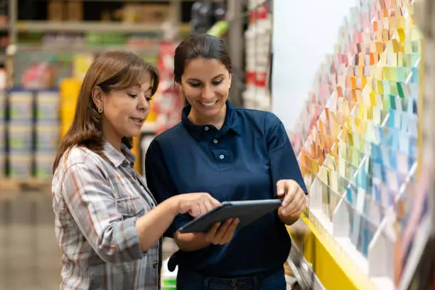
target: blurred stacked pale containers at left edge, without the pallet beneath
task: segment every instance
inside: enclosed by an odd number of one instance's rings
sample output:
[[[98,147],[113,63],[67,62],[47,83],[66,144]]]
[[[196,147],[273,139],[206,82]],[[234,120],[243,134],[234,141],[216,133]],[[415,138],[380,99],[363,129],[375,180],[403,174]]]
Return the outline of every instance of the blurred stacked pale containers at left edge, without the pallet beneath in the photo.
[[[11,90],[5,95],[9,103],[4,111],[9,164],[5,176],[17,180],[50,178],[60,132],[58,91]]]

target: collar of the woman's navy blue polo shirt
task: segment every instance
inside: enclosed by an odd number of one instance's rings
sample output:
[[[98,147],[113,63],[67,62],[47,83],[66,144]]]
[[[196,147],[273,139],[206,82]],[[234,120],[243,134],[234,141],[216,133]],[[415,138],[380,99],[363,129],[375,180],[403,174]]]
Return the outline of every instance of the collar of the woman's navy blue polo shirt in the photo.
[[[181,123],[189,132],[189,134],[191,134],[197,140],[202,139],[204,134],[208,134],[210,129],[212,131],[219,131],[221,135],[226,134],[228,131],[233,131],[235,134],[240,134],[240,119],[237,115],[236,109],[232,106],[229,100],[227,100],[226,104],[227,112],[225,114],[225,121],[220,130],[216,129],[216,127],[213,125],[196,125],[190,122],[188,118],[190,109],[192,109],[190,104],[183,108],[183,112],[181,114]]]

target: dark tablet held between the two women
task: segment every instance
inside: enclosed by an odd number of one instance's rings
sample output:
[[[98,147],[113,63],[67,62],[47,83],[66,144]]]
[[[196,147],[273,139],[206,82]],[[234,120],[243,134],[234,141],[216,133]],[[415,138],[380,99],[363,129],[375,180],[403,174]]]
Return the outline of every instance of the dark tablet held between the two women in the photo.
[[[237,230],[240,230],[254,220],[279,208],[281,202],[282,200],[225,201],[217,208],[188,222],[179,231],[181,233],[207,232],[216,222],[225,222],[229,218],[240,220],[237,225]]]

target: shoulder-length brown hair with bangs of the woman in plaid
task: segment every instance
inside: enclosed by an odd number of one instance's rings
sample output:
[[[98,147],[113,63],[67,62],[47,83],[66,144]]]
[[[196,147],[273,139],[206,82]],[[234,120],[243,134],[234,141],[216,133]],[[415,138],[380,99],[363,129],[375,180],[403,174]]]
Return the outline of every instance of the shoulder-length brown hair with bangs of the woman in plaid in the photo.
[[[154,95],[159,87],[159,73],[154,66],[139,56],[124,51],[113,51],[95,58],[82,81],[73,124],[60,141],[58,154],[53,163],[53,173],[58,168],[63,154],[73,146],[85,146],[104,157],[101,114],[92,100],[92,90],[95,87],[100,87],[105,93],[125,90],[138,85],[144,73],[151,77],[151,93]],[[122,143],[131,149],[131,138],[122,138]]]

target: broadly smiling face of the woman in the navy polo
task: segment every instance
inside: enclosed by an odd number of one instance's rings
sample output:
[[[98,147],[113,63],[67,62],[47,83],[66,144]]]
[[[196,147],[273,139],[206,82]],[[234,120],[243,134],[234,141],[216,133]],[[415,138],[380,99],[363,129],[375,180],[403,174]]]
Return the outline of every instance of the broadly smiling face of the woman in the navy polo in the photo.
[[[195,124],[222,127],[231,75],[220,60],[190,60],[181,77],[181,95],[192,106],[189,117]]]

